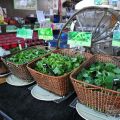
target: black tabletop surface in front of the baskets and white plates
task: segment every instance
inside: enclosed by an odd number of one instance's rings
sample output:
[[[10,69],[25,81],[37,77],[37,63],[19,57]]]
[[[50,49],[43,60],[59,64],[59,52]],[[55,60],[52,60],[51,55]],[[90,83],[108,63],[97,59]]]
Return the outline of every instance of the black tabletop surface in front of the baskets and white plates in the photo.
[[[33,98],[28,87],[14,87],[6,83],[0,85],[0,114],[8,120],[84,120],[70,108],[74,99],[57,104]],[[8,118],[9,116],[9,118]]]

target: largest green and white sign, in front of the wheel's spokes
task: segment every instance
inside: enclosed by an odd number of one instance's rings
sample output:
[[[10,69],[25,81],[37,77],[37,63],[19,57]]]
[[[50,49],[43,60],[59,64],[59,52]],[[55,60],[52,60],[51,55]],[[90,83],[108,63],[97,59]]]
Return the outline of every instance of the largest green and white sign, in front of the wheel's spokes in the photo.
[[[68,44],[70,47],[91,46],[92,33],[90,32],[69,32]]]

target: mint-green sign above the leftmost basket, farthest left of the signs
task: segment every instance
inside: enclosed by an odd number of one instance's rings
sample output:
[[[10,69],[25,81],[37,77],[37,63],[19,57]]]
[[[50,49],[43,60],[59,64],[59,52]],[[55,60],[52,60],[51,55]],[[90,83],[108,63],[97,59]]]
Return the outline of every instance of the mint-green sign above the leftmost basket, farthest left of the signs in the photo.
[[[33,36],[33,30],[31,29],[17,29],[17,37],[24,38],[24,39],[32,39]]]

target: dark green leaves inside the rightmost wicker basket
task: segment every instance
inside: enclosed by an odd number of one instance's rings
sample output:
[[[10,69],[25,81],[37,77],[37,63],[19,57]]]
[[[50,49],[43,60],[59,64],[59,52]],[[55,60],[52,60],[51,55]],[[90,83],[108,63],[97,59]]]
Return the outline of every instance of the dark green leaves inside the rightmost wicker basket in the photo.
[[[112,63],[96,62],[77,75],[77,80],[108,89],[112,89],[114,79],[120,79],[120,68]]]

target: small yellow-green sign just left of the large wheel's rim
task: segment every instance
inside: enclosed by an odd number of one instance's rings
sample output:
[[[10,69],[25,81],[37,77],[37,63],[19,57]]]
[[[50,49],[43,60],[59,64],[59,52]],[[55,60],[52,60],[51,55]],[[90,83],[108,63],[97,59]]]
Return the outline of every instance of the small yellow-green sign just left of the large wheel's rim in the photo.
[[[38,37],[43,40],[53,40],[53,31],[51,28],[39,28]]]

